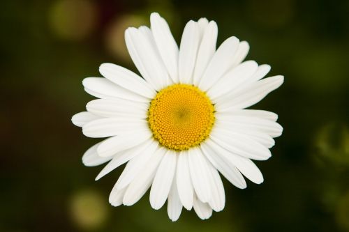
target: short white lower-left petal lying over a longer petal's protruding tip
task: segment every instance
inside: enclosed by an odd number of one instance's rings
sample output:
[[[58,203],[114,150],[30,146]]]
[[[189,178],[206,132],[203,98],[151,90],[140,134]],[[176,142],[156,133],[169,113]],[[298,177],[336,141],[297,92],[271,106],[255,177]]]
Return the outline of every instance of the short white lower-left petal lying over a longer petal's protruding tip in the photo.
[[[128,134],[122,134],[119,136],[110,137],[105,139],[100,146],[98,146],[98,155],[101,157],[107,157],[114,155],[121,150],[133,148],[142,142],[147,141],[152,136],[150,130],[138,130],[135,132],[128,132]]]

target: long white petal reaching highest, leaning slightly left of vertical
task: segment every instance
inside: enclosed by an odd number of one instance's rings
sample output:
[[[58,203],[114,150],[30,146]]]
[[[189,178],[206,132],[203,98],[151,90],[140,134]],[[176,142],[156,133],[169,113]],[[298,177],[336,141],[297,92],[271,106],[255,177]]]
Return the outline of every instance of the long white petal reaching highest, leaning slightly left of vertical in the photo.
[[[178,82],[178,45],[174,40],[168,23],[158,13],[150,15],[151,31],[172,81]]]

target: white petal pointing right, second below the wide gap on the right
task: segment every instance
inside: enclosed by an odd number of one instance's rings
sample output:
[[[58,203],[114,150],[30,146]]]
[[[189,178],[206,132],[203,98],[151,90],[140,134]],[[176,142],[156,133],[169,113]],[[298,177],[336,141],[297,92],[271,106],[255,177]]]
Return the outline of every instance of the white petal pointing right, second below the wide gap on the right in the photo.
[[[217,122],[225,129],[234,130],[239,127],[242,130],[261,132],[268,134],[271,137],[279,137],[283,132],[283,127],[274,121],[263,118],[249,117],[249,116],[235,116],[231,114],[216,114]]]

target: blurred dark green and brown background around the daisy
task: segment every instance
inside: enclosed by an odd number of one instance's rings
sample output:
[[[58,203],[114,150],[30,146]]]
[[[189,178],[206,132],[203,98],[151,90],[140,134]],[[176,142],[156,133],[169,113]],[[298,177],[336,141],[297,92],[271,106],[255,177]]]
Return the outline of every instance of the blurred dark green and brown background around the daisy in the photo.
[[[113,208],[122,167],[81,156],[98,139],[70,118],[93,99],[82,79],[103,62],[135,70],[124,29],[165,17],[179,42],[188,20],[218,24],[218,44],[247,40],[247,59],[272,65],[285,83],[253,109],[279,114],[273,157],[257,162],[265,183],[239,190],[225,181],[223,212],[178,222],[148,195]],[[2,1],[0,231],[349,231],[349,1],[33,0]]]

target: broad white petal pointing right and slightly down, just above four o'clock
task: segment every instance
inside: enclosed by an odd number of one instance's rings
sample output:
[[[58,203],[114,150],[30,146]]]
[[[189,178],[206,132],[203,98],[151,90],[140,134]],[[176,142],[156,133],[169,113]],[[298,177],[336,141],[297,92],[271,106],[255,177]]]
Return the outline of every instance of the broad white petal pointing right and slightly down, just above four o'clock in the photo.
[[[250,139],[244,134],[235,132],[212,130],[211,139],[223,148],[230,150],[232,153],[242,155],[253,160],[267,160],[272,156],[270,150]]]

